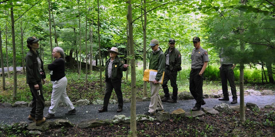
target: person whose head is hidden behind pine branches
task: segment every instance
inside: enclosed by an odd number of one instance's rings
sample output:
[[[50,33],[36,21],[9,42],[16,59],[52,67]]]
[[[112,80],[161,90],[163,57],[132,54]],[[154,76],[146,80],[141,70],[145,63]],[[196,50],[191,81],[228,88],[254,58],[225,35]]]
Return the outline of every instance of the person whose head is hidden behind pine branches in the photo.
[[[221,85],[223,89],[223,98],[219,98],[219,100],[226,100],[229,101],[229,93],[228,93],[228,87],[227,87],[227,80],[229,82],[230,88],[231,88],[231,94],[232,94],[232,102],[231,104],[237,103],[237,90],[234,80],[234,71],[236,64],[233,64],[231,59],[229,57],[223,56],[223,50],[220,54],[220,63],[221,66],[220,69],[220,76],[221,76]]]

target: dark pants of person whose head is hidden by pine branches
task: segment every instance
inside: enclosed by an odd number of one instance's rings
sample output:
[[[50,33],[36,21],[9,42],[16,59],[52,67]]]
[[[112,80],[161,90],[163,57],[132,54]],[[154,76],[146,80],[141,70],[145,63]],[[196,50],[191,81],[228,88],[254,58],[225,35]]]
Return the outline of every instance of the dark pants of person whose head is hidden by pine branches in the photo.
[[[220,69],[220,76],[221,76],[221,85],[223,89],[223,97],[227,98],[228,94],[228,87],[227,87],[227,80],[229,82],[231,88],[232,99],[237,100],[237,91],[236,85],[234,81],[234,71],[231,69],[233,65],[222,65]]]

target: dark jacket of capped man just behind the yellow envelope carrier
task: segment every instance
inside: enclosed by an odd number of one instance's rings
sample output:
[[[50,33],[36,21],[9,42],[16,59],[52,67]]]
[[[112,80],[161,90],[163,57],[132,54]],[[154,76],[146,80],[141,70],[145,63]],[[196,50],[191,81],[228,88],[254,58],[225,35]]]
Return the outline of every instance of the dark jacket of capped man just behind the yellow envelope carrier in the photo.
[[[169,54],[170,47],[165,51],[164,55],[166,57]],[[172,49],[171,53],[169,54],[169,67],[172,71],[180,71],[181,70],[181,55],[178,49]]]

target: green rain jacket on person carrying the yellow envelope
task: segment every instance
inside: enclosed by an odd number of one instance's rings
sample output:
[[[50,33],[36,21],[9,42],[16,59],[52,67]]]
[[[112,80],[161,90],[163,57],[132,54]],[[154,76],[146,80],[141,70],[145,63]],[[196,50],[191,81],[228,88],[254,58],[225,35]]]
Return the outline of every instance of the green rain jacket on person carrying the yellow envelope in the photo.
[[[165,67],[165,56],[164,53],[162,52],[162,49],[159,48],[160,50],[151,53],[150,54],[150,62],[149,62],[149,69],[154,69],[158,70],[158,73],[156,75],[156,80],[159,81],[160,78],[162,77],[164,67]]]

